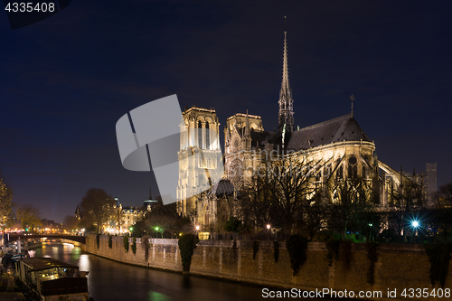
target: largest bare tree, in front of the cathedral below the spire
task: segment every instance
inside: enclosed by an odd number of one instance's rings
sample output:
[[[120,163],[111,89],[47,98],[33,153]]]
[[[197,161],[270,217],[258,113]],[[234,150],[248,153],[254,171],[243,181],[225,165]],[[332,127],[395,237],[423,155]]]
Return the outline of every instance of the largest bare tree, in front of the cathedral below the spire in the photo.
[[[315,176],[322,165],[305,156],[278,155],[263,158],[243,191],[246,212],[257,228],[281,227],[285,235],[306,226],[306,204],[315,195]]]

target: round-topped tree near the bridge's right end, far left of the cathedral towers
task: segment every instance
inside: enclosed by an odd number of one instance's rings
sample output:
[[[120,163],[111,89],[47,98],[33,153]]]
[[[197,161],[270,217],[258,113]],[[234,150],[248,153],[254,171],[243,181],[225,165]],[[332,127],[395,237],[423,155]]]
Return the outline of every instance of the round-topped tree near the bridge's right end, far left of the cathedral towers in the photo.
[[[83,216],[91,216],[96,223],[97,232],[101,230],[102,223],[108,221],[115,201],[103,189],[91,188],[81,198],[80,207]]]

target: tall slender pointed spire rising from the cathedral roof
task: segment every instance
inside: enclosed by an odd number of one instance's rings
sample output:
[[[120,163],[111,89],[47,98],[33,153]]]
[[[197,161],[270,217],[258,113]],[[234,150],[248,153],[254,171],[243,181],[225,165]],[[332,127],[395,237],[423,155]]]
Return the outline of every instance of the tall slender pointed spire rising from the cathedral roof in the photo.
[[[294,130],[294,99],[292,99],[292,90],[290,89],[290,84],[288,82],[287,31],[284,31],[283,78],[278,103],[279,133],[282,132],[284,125],[286,125],[286,131],[292,132]]]

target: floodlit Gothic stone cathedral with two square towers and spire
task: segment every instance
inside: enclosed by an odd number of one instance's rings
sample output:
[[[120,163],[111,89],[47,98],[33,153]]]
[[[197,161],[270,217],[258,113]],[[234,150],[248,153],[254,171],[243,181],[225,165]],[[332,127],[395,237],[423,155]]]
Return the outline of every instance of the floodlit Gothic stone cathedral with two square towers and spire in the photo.
[[[259,168],[262,150],[276,154],[286,151],[310,161],[322,162],[340,178],[363,178],[372,183],[376,203],[383,208],[395,202],[391,190],[405,182],[422,187],[425,202],[431,204],[431,193],[436,191],[436,164],[428,164],[426,174],[408,174],[382,163],[377,158],[372,139],[353,117],[353,95],[351,99],[350,114],[310,127],[294,128],[294,99],[288,80],[285,32],[278,131],[264,130],[261,118],[248,111],[237,113],[226,120],[223,155],[220,122],[215,110],[185,108],[181,129],[189,134],[181,135],[179,158],[188,160],[179,160],[177,195],[181,201],[177,202],[177,212],[191,217],[204,230],[215,229],[221,212],[240,217],[240,189],[250,178],[247,171]],[[193,150],[202,151],[202,156],[190,156]],[[212,184],[209,170],[217,168],[219,162],[224,165],[224,175],[219,183]],[[200,191],[200,185],[203,185],[203,193],[190,196],[194,194],[192,192]]]

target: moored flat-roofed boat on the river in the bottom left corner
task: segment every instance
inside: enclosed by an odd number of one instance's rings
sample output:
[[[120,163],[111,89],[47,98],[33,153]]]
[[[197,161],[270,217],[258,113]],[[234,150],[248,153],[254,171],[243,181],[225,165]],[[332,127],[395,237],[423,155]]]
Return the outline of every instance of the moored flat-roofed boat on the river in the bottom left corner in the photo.
[[[88,301],[88,272],[51,258],[19,259],[16,273],[40,301]]]

